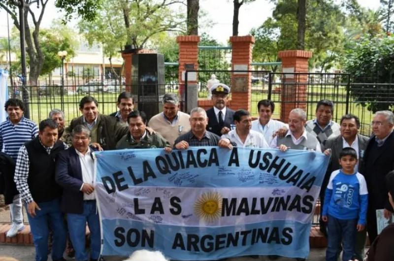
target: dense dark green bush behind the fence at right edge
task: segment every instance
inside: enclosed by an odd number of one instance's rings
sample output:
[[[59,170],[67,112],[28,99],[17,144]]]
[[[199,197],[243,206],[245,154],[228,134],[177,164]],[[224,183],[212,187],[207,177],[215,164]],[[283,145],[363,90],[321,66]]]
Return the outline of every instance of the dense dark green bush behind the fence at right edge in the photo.
[[[351,95],[362,106],[376,112],[387,110],[394,105],[387,86],[373,83],[393,83],[394,81],[394,37],[368,35],[354,42],[346,53],[344,67],[354,75],[354,82],[366,83],[352,87]],[[368,84],[372,83],[372,84]]]

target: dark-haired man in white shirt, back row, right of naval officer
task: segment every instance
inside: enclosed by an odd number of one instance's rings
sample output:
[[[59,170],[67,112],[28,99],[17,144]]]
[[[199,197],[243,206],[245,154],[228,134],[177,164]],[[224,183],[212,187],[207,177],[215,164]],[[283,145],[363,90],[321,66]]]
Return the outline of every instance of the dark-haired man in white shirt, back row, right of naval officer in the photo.
[[[271,119],[275,109],[273,101],[262,99],[257,103],[257,109],[259,110],[259,119],[252,122],[252,130],[262,133],[265,141],[270,144],[276,131],[285,127],[286,124]]]

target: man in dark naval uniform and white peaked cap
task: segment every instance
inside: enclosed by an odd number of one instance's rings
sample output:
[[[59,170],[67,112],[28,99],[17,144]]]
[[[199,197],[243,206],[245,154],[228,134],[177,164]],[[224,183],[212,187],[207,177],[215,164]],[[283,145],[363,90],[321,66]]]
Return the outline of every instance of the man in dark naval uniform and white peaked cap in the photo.
[[[211,87],[213,108],[206,111],[208,125],[206,130],[218,136],[230,131],[233,123],[234,111],[226,106],[230,87],[223,83],[216,83]]]

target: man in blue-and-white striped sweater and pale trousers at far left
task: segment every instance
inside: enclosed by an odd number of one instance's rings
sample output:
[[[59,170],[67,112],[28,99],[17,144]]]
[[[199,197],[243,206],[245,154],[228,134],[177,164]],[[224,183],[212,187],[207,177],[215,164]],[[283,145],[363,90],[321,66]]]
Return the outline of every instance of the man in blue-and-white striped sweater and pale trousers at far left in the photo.
[[[38,134],[37,125],[23,117],[24,104],[22,100],[11,98],[5,102],[7,119],[0,123],[0,149],[15,162],[19,148]],[[15,236],[23,230],[22,202],[18,195],[14,196],[10,206],[12,226],[7,232],[8,237]]]

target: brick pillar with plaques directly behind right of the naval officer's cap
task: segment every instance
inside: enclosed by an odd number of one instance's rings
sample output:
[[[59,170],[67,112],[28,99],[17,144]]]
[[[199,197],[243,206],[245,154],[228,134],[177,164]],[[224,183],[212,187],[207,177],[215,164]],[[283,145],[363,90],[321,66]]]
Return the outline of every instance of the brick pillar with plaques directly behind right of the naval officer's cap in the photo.
[[[230,36],[230,42],[232,45],[232,69],[250,70],[255,37],[252,35]],[[252,73],[235,72],[231,75],[231,81],[231,109],[245,109],[250,111],[252,98]]]

